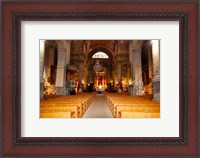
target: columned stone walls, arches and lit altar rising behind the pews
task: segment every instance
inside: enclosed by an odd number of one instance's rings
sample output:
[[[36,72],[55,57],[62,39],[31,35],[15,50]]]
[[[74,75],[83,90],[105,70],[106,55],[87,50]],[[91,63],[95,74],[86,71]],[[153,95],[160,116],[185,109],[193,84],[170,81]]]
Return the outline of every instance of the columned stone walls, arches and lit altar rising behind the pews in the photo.
[[[160,102],[160,40],[40,40],[40,100],[126,93]]]

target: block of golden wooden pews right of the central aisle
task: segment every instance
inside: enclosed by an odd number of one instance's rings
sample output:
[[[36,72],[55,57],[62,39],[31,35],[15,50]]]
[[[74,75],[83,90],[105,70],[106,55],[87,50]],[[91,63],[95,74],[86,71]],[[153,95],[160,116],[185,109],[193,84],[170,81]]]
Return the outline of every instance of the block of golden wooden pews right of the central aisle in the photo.
[[[105,99],[115,118],[160,118],[160,103],[142,96],[106,93]]]

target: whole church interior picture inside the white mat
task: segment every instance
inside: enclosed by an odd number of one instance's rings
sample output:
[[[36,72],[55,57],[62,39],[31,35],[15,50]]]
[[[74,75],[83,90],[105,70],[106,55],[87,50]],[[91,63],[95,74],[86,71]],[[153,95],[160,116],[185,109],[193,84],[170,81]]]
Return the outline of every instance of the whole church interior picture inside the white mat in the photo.
[[[160,41],[40,40],[40,118],[160,118]]]

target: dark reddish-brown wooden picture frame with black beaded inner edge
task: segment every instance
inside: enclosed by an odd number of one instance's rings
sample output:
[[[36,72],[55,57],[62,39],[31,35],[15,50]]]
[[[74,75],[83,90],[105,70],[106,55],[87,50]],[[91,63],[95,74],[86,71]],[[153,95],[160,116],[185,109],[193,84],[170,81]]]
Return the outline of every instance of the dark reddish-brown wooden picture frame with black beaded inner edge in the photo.
[[[200,156],[198,1],[3,2],[2,7],[2,156]],[[21,138],[22,20],[179,20],[180,137]]]

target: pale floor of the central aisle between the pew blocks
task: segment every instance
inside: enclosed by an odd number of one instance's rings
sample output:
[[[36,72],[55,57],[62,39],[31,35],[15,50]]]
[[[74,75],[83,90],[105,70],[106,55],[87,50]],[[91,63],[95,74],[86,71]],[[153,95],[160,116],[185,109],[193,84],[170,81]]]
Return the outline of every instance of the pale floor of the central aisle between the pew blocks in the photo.
[[[94,101],[82,118],[113,118],[103,94],[96,94]]]

